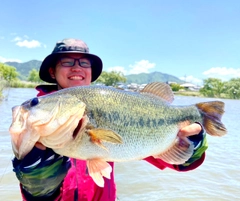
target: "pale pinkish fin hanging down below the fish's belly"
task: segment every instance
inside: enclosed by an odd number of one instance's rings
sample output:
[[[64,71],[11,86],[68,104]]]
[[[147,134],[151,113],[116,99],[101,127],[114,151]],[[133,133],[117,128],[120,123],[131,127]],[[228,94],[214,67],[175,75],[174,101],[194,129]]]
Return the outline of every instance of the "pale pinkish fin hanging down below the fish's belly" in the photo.
[[[103,177],[110,179],[112,167],[106,161],[101,159],[87,160],[87,167],[89,175],[92,177],[93,181],[98,186],[104,187]]]

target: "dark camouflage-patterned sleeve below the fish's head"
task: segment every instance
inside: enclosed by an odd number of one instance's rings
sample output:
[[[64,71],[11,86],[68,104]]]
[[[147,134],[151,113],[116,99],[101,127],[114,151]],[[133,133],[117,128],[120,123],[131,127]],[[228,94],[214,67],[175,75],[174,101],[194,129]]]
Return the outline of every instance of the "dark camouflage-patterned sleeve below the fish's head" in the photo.
[[[20,181],[23,199],[27,201],[56,199],[70,166],[67,157],[49,148],[34,147],[23,160],[13,159],[13,171]]]

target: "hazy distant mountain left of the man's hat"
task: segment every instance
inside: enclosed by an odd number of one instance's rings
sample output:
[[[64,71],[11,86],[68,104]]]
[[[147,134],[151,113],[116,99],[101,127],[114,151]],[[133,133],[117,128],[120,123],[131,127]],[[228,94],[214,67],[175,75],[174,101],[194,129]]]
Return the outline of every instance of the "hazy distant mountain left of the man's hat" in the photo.
[[[42,62],[38,60],[31,60],[24,63],[6,62],[5,64],[15,67],[17,71],[21,74],[20,79],[26,80],[29,75],[29,72],[34,68],[36,70],[39,70]]]

